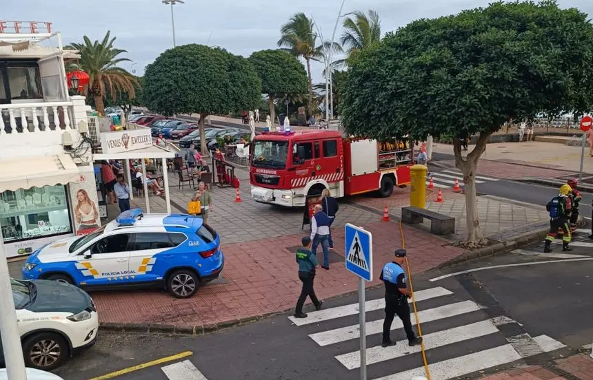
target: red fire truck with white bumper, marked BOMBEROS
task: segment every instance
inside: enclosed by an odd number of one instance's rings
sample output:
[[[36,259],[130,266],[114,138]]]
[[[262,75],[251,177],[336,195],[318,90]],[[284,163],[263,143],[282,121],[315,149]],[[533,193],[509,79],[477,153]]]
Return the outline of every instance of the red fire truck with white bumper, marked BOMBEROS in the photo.
[[[334,197],[410,183],[409,140],[344,138],[339,131],[263,132],[251,149],[251,196],[258,202],[301,207],[306,196],[330,189]]]

